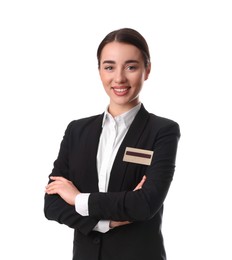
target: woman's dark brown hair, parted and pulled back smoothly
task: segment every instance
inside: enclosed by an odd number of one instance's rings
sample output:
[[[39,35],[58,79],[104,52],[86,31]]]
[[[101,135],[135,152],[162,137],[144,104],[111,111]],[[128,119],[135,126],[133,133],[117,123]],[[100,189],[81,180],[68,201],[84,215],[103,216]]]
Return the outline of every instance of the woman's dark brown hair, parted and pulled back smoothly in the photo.
[[[150,63],[150,52],[145,38],[134,29],[122,28],[107,34],[102,42],[99,44],[97,49],[98,68],[100,68],[102,49],[105,47],[106,44],[110,42],[122,42],[134,45],[141,51],[145,67],[147,67]]]

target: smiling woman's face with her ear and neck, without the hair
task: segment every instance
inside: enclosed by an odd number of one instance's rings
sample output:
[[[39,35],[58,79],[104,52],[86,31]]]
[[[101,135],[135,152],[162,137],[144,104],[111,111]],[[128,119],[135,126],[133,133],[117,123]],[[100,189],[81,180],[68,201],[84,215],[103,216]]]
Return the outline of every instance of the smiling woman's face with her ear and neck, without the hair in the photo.
[[[111,115],[120,115],[138,105],[143,82],[150,73],[150,63],[145,67],[141,51],[131,44],[111,42],[102,49],[99,64]]]

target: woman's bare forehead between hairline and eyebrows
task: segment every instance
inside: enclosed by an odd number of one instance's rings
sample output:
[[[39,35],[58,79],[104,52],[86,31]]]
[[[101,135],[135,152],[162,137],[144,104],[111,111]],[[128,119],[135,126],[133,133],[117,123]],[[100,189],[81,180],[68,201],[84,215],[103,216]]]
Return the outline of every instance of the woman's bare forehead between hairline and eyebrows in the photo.
[[[121,42],[110,42],[107,43],[102,49],[101,61],[112,60],[112,61],[123,61],[123,60],[142,60],[141,51],[132,44],[121,43]]]

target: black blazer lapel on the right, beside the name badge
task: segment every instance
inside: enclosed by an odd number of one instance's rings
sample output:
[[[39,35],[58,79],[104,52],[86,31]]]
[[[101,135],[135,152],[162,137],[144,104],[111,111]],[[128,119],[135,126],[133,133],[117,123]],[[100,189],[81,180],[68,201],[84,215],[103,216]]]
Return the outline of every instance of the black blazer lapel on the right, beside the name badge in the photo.
[[[141,106],[138,114],[132,122],[121,146],[119,147],[118,153],[115,157],[114,164],[111,170],[110,181],[108,191],[119,191],[123,182],[125,171],[128,163],[123,162],[123,156],[126,147],[136,147],[141,135],[143,134],[144,128],[146,127],[149,113],[145,110],[144,106]]]

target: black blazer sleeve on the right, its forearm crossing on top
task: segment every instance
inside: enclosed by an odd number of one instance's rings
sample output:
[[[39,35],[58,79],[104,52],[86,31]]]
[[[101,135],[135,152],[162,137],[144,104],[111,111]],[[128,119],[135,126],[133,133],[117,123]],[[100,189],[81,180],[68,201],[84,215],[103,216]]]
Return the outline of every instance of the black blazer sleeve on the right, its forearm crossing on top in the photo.
[[[151,219],[162,207],[175,170],[179,125],[173,121],[159,129],[146,182],[137,191],[91,193],[89,216],[115,221]]]

